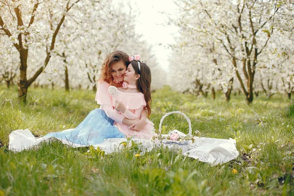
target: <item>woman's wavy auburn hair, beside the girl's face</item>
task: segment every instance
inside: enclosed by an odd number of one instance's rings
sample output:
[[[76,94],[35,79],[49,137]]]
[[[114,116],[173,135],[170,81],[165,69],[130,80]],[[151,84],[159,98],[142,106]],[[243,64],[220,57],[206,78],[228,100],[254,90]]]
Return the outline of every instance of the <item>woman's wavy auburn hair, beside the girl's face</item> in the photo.
[[[124,65],[127,67],[129,65],[128,54],[121,50],[115,50],[108,54],[101,66],[98,82],[105,80],[111,84],[113,80],[111,66],[113,63],[120,61],[123,61]]]

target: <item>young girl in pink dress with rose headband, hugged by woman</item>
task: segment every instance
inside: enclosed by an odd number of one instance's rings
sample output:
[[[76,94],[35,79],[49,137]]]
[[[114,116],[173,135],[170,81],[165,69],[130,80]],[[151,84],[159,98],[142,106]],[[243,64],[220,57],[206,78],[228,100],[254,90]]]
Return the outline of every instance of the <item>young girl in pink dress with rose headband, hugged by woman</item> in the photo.
[[[123,87],[118,88],[118,95],[112,98],[112,106],[115,107],[116,111],[131,120],[140,119],[143,110],[147,110],[148,116],[151,113],[151,72],[149,67],[140,60],[140,55],[129,57],[131,63],[124,73]],[[150,139],[156,135],[154,124],[149,120],[139,131],[134,131],[118,121],[114,124],[127,137]]]

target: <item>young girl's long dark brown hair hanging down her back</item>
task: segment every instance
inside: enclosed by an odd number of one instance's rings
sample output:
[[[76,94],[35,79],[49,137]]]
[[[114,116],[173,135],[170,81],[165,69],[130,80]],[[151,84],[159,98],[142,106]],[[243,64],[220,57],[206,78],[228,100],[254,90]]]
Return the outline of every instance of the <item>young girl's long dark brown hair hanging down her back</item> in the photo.
[[[137,80],[137,89],[141,93],[144,94],[144,98],[146,101],[146,107],[144,109],[147,109],[148,117],[151,114],[151,108],[150,104],[152,102],[151,100],[151,71],[149,67],[145,63],[140,63],[140,70],[138,66],[139,61],[132,61],[132,67],[134,68],[136,74],[140,74],[139,79]]]

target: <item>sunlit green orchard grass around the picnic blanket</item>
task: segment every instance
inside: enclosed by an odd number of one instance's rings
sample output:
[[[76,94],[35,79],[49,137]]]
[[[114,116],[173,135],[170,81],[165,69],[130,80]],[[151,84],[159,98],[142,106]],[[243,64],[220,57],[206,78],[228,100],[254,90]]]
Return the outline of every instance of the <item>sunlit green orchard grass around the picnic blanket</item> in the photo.
[[[95,93],[30,88],[28,103],[17,101],[17,88],[0,86],[0,140],[28,128],[35,135],[73,128],[98,107]],[[135,157],[138,148],[103,155],[99,150],[72,148],[58,141],[19,153],[0,149],[0,196],[36,195],[294,195],[293,104],[285,95],[255,98],[249,106],[244,96],[229,103],[218,95],[197,98],[165,87],[152,94],[150,120],[158,130],[161,117],[179,110],[203,137],[237,141],[240,156],[229,163],[210,166],[164,148]],[[292,112],[292,113],[291,113]],[[260,119],[259,119],[260,118]],[[168,116],[162,132],[188,132],[180,115]],[[232,173],[236,169],[236,174]]]

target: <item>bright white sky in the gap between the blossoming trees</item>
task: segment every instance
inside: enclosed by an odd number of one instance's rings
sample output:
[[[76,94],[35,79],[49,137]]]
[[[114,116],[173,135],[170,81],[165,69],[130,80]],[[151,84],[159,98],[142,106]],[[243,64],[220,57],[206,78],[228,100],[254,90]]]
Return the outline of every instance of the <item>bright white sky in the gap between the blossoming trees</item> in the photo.
[[[136,25],[138,33],[153,46],[153,53],[158,59],[159,65],[166,71],[169,69],[169,55],[171,49],[168,44],[173,44],[173,35],[177,28],[167,24],[167,17],[164,13],[172,13],[175,5],[172,0],[136,0],[140,10],[139,23]]]

